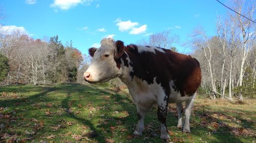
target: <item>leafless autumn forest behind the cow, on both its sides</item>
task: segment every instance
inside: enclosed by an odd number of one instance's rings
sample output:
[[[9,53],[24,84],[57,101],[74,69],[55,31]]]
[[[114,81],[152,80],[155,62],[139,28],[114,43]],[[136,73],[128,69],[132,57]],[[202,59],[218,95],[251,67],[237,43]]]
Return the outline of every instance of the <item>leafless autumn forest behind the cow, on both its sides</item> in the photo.
[[[186,54],[200,62],[203,79],[199,92],[205,97],[243,100],[256,95],[256,24],[250,20],[255,19],[255,8],[243,1],[234,1],[232,8],[247,17],[227,12],[224,19],[216,17],[216,35],[208,36],[198,26],[185,44],[193,48],[192,53]],[[173,46],[178,42],[179,35],[163,31],[138,40],[137,44],[179,52]],[[1,33],[0,60],[2,85],[84,83],[82,75],[90,65],[90,57],[73,47],[72,40],[63,44],[58,36],[33,39],[19,31]],[[110,82],[123,85],[119,80]]]

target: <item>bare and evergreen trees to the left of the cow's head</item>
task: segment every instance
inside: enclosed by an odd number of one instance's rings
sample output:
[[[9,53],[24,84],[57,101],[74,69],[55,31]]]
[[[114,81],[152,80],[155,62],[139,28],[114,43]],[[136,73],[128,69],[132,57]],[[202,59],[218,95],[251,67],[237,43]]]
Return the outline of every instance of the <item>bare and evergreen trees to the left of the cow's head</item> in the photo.
[[[58,36],[34,40],[19,31],[1,35],[0,59],[8,61],[0,65],[2,84],[74,82],[83,62],[72,41],[63,45]]]

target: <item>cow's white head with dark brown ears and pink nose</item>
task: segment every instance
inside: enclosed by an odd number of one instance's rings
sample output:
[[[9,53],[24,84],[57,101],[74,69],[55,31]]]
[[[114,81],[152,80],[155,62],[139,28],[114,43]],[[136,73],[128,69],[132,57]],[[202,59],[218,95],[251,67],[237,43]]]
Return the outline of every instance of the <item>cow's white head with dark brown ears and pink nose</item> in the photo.
[[[124,45],[122,41],[104,38],[99,48],[90,48],[92,63],[83,74],[84,80],[90,83],[109,81],[121,74],[121,68],[117,67],[116,61],[122,56]]]

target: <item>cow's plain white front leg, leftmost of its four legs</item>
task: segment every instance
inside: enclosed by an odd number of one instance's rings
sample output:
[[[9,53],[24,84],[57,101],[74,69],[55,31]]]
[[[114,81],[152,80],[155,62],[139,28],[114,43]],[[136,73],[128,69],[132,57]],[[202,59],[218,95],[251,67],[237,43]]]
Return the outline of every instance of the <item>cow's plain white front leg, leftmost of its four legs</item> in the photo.
[[[147,107],[143,107],[140,104],[137,104],[137,116],[138,116],[138,124],[136,127],[136,130],[134,131],[134,135],[142,135],[142,132],[144,130],[144,118],[145,113],[148,110]]]

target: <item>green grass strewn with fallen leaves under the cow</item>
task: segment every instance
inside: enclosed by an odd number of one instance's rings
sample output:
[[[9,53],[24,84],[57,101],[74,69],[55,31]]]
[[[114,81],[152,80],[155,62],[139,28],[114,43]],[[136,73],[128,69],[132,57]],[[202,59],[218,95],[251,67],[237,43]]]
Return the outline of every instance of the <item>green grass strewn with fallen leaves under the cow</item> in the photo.
[[[133,138],[136,106],[126,90],[76,83],[0,87],[0,142],[163,142],[156,110],[147,112],[143,135]],[[255,115],[255,103],[199,99],[191,133],[176,128],[175,104],[167,126],[173,142],[255,142]]]

